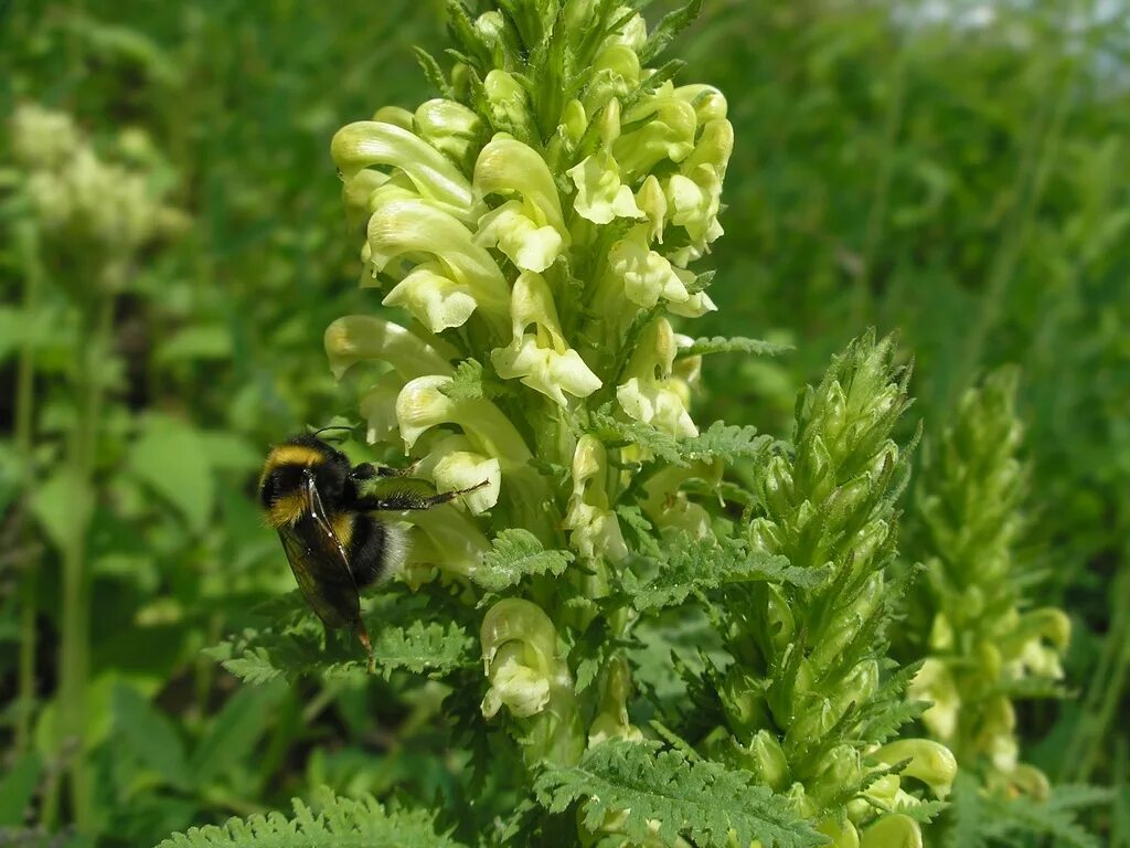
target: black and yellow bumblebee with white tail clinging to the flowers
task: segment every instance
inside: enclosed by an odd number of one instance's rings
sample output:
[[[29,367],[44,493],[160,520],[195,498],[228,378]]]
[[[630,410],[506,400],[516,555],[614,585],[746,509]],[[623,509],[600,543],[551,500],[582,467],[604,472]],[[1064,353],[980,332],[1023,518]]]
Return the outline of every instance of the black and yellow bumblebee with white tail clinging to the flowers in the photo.
[[[360,617],[360,591],[398,568],[407,553],[403,531],[373,513],[431,509],[485,483],[426,493],[423,482],[405,477],[411,469],[351,465],[318,438],[321,432],[271,448],[259,483],[260,501],[306,603],[327,628],[350,628],[357,634],[372,672],[373,646]],[[384,485],[380,478],[385,478]]]

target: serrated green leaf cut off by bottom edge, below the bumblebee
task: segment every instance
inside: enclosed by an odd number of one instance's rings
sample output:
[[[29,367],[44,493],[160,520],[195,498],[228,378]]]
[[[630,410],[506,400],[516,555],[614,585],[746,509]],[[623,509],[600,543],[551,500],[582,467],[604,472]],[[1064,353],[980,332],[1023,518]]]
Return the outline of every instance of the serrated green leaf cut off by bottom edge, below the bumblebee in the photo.
[[[157,848],[459,848],[435,832],[426,811],[388,812],[371,795],[341,798],[324,787],[314,801],[316,812],[295,798],[293,819],[280,813],[229,819],[174,833]]]

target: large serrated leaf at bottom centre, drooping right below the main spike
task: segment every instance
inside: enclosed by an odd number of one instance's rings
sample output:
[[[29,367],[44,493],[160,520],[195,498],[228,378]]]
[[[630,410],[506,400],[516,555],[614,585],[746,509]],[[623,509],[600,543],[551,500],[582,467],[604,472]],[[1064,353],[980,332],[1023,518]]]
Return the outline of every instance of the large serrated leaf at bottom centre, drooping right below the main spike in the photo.
[[[789,802],[755,786],[745,771],[716,762],[688,762],[655,744],[615,739],[585,752],[576,765],[548,763],[534,794],[554,813],[582,802],[584,823],[599,831],[609,815],[623,816],[629,840],[730,848],[759,840],[763,848],[806,848],[825,839]]]

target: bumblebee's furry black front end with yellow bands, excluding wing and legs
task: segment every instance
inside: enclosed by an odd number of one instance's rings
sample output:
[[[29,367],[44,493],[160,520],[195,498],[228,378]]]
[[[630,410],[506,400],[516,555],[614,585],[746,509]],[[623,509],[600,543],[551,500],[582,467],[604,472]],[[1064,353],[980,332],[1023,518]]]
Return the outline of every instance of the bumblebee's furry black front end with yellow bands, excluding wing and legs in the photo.
[[[350,500],[349,459],[315,435],[298,435],[276,444],[267,455],[259,482],[259,497],[272,527],[293,525],[308,511],[303,486],[313,476],[327,510]],[[354,493],[355,494],[355,493]]]

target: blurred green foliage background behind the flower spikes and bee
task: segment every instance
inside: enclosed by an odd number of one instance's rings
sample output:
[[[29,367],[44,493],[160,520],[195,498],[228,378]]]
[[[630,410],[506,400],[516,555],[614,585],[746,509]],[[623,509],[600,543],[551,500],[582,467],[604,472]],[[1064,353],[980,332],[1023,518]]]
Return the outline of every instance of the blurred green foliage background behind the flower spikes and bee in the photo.
[[[0,842],[150,845],[320,784],[458,791],[428,686],[238,687],[201,655],[293,588],[258,466],[349,412],[321,335],[376,304],[329,139],[433,96],[410,46],[441,52],[442,20],[435,0],[0,3]],[[714,0],[675,47],[737,132],[720,309],[695,332],[796,345],[712,357],[695,417],[781,431],[868,326],[916,357],[928,434],[1022,366],[1023,554],[1033,600],[1071,613],[1076,692],[1022,713],[1023,755],[1115,784],[1093,822],[1112,845],[1130,845],[1128,51],[1124,0]],[[112,279],[27,201],[8,130],[32,103],[180,210]]]

